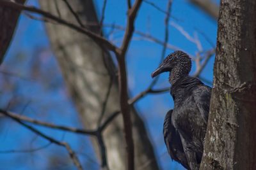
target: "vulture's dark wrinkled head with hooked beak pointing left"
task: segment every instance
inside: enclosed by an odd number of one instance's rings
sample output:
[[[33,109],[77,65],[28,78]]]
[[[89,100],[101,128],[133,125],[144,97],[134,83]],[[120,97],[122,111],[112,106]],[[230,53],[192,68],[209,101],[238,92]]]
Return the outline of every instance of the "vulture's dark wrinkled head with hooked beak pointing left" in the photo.
[[[175,70],[182,74],[189,74],[191,70],[191,58],[182,51],[170,53],[160,64],[160,66],[151,74],[152,78],[161,73]]]

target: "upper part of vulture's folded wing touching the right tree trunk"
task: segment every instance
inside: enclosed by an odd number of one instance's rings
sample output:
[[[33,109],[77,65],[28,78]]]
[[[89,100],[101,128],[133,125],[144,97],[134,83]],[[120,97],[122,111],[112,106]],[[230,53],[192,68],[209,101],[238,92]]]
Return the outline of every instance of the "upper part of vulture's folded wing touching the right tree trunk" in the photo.
[[[204,119],[205,124],[207,124],[210,99],[211,99],[211,87],[200,86],[194,92],[194,99],[200,115]]]

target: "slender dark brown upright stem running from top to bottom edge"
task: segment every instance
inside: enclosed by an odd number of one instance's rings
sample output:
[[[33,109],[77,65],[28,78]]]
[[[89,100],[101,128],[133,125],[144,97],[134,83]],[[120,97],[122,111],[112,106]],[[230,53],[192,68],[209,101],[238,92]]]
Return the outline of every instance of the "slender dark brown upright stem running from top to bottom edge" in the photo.
[[[134,169],[134,143],[132,138],[132,122],[130,106],[128,104],[127,72],[125,64],[125,55],[129,44],[131,43],[132,34],[134,33],[134,20],[141,6],[142,0],[136,0],[134,5],[127,12],[127,25],[124,39],[120,51],[116,53],[118,60],[118,85],[120,95],[120,110],[123,115],[124,134],[127,151],[127,170]]]

